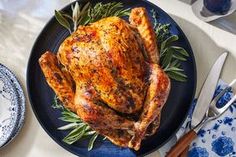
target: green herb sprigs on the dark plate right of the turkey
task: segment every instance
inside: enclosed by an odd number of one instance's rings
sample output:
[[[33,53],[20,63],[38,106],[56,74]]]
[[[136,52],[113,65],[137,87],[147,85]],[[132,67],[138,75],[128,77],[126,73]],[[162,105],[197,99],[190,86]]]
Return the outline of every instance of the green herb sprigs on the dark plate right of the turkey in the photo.
[[[174,45],[179,37],[170,33],[170,24],[158,23],[157,13],[154,10],[151,10],[151,12],[160,50],[161,67],[171,79],[180,82],[187,81],[187,76],[181,67],[181,61],[186,61],[189,54],[184,48]]]

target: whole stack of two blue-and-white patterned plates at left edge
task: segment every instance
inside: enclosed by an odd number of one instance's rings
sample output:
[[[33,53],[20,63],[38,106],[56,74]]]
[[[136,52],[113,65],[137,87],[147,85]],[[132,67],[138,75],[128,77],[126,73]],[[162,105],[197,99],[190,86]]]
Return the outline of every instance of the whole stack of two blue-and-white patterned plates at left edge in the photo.
[[[0,64],[0,148],[19,133],[25,117],[25,96],[15,75]]]

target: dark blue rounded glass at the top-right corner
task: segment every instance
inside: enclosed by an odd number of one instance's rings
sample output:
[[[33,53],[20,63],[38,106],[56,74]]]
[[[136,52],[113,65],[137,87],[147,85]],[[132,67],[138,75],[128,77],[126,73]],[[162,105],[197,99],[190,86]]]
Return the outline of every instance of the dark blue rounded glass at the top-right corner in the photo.
[[[226,14],[231,7],[231,0],[204,0],[204,6],[216,14]]]

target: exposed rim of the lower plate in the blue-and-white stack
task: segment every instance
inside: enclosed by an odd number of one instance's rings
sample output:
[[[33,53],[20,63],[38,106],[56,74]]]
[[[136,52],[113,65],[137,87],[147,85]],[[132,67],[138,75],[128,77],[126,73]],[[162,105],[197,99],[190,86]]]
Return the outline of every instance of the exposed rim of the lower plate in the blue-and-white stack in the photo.
[[[4,69],[4,70],[3,70]],[[10,143],[15,137],[16,135],[18,135],[20,129],[22,128],[23,124],[24,124],[24,119],[25,119],[25,96],[24,96],[24,92],[23,89],[19,83],[19,81],[17,80],[16,76],[8,69],[6,68],[4,65],[0,64],[0,71],[2,71],[2,73],[10,79],[10,81],[14,84],[14,90],[17,94],[17,101],[18,101],[18,106],[19,106],[19,118],[17,121],[17,126],[15,128],[15,130],[13,130],[13,134],[12,136],[8,139],[8,141],[4,144],[4,146],[6,146],[8,143]],[[2,146],[3,147],[3,146]]]

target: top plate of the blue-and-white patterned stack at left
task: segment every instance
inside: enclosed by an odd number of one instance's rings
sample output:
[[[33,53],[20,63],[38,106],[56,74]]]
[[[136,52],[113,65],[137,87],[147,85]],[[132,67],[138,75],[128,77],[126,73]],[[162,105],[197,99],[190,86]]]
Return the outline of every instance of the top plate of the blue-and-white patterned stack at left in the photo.
[[[0,68],[0,147],[12,137],[20,118],[18,96],[14,84]]]

